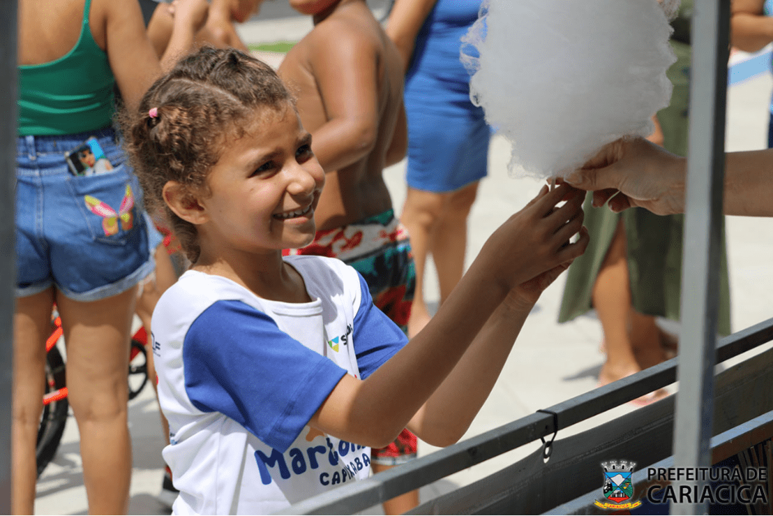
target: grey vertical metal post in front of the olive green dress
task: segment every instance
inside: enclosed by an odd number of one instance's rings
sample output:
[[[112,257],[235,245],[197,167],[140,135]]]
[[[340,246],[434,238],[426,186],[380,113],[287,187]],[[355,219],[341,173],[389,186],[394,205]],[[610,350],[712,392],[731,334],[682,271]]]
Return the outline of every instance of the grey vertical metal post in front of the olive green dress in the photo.
[[[674,422],[677,467],[711,465],[729,24],[730,0],[695,2],[682,332]],[[699,482],[699,493],[705,484]],[[683,501],[673,505],[671,514],[708,514],[707,509],[706,503]]]

